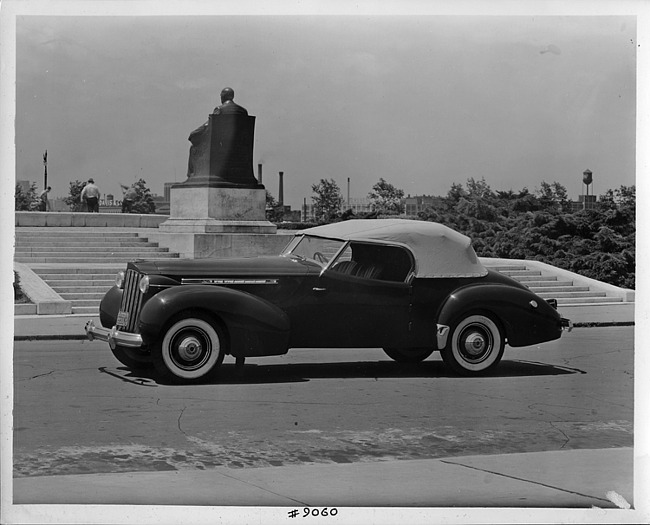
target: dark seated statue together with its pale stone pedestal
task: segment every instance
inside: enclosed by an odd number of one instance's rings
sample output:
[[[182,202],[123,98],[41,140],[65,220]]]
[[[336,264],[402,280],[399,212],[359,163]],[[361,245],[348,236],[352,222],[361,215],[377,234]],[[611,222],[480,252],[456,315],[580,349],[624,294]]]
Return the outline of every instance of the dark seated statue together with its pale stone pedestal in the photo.
[[[255,117],[233,97],[225,88],[222,105],[190,133],[187,180],[170,189],[158,242],[183,257],[266,255],[286,244],[266,220],[266,190],[253,173]]]

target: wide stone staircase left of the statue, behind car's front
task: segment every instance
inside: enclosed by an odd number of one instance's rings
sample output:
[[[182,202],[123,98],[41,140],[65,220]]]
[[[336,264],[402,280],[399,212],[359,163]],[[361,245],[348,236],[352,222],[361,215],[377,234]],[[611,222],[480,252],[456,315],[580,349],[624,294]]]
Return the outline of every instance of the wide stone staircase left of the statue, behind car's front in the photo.
[[[178,257],[140,235],[137,231],[16,228],[14,260],[28,265],[70,301],[73,314],[96,315],[115,274],[128,261]]]

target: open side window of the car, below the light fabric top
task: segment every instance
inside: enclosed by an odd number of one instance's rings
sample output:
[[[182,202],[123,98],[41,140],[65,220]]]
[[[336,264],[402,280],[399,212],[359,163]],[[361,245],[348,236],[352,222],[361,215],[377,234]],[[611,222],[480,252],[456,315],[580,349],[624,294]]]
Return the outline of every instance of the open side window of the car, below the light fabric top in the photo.
[[[404,282],[412,267],[411,257],[398,246],[353,242],[341,252],[332,271],[363,279]]]

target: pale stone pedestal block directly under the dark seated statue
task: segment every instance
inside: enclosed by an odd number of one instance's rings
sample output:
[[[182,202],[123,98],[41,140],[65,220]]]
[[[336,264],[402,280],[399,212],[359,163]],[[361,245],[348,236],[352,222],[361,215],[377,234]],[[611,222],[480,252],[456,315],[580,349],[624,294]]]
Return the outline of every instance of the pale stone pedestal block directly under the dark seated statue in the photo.
[[[266,220],[266,191],[257,188],[173,186],[165,233],[275,233]]]

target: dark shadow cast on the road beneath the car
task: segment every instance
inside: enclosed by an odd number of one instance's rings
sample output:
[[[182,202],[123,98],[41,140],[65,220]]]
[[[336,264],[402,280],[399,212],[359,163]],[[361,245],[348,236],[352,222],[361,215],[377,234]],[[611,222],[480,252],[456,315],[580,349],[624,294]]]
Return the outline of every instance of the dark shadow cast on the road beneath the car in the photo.
[[[164,385],[153,370],[130,370],[102,368],[102,372],[123,381],[142,386]],[[550,365],[535,361],[504,360],[491,373],[483,374],[484,379],[508,377],[554,376],[564,374],[584,374],[586,372],[565,366]],[[424,361],[417,364],[402,364],[394,361],[357,361],[333,363],[291,363],[291,364],[234,364],[221,366],[218,376],[204,384],[264,384],[299,383],[312,379],[390,379],[390,378],[454,378],[456,380],[475,380],[476,377],[463,377],[450,372],[442,361]]]

